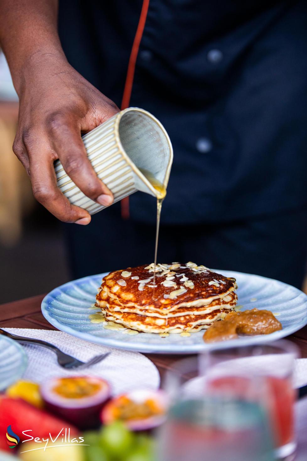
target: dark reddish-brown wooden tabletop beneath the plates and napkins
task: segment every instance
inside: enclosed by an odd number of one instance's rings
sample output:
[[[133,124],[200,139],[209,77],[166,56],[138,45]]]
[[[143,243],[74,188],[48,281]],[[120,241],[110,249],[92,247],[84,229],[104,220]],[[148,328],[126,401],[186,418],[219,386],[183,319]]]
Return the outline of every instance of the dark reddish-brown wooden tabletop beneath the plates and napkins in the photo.
[[[56,330],[41,313],[41,301],[44,295],[33,296],[20,301],[0,305],[0,328],[40,328]],[[301,357],[307,357],[307,326],[288,337],[297,344]],[[182,358],[180,355],[146,354],[158,368],[161,377],[172,368],[172,364]]]

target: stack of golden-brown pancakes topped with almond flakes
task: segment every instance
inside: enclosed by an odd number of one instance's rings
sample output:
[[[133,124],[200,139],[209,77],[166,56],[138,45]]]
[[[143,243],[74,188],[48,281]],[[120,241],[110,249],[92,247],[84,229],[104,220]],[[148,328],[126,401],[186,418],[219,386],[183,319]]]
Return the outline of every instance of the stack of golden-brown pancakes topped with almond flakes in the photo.
[[[223,319],[235,307],[236,288],[234,278],[192,262],[152,263],[106,275],[96,306],[106,320],[132,330],[195,332]]]

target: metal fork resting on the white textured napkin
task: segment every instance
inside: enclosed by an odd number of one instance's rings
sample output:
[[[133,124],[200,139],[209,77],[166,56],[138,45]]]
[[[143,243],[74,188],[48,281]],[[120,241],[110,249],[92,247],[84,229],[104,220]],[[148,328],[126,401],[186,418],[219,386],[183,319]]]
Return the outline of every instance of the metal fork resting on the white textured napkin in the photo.
[[[107,352],[106,354],[95,355],[92,359],[90,359],[87,362],[81,362],[81,360],[75,359],[75,357],[72,357],[71,355],[64,354],[64,352],[62,352],[60,349],[58,349],[53,344],[47,343],[46,341],[43,341],[41,339],[34,339],[34,338],[27,338],[23,336],[13,335],[12,333],[9,333],[8,331],[2,330],[2,328],[0,328],[0,335],[7,336],[11,339],[14,339],[15,341],[18,341],[18,343],[38,344],[40,346],[51,349],[57,355],[58,364],[66,369],[78,368],[79,370],[82,370],[84,368],[87,368],[88,366],[92,366],[98,362],[103,361],[108,355],[110,355],[110,352]]]

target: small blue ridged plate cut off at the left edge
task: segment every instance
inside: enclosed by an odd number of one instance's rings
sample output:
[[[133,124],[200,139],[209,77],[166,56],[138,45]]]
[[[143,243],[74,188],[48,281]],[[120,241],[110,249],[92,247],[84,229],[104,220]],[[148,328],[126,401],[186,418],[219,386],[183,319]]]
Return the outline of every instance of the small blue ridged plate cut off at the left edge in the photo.
[[[21,378],[27,364],[28,358],[22,346],[0,335],[0,391]]]

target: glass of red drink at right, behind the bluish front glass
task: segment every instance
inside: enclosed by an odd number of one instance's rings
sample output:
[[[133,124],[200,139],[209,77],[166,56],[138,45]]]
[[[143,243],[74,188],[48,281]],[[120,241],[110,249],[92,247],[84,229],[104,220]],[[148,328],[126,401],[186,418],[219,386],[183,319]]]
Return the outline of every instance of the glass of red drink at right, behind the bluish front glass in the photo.
[[[290,341],[211,350],[199,357],[204,391],[257,401],[270,421],[278,459],[291,460],[294,434],[293,370],[298,349]]]

